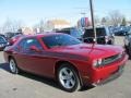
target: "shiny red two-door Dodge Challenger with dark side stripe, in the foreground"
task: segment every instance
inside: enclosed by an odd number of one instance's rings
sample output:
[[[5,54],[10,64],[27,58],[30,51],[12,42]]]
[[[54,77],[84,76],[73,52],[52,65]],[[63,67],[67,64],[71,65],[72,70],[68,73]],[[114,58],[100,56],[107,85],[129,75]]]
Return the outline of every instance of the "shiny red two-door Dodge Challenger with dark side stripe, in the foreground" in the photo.
[[[67,34],[24,36],[4,49],[10,70],[58,81],[67,91],[120,74],[128,60],[119,46],[87,45]]]

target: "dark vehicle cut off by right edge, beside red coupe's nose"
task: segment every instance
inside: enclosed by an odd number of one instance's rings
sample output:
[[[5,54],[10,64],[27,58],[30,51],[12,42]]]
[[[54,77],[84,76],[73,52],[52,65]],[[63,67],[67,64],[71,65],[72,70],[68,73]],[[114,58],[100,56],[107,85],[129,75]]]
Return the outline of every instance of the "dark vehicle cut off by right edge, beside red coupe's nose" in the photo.
[[[127,50],[129,57],[131,58],[131,29],[126,34],[123,41],[124,41],[126,50]]]

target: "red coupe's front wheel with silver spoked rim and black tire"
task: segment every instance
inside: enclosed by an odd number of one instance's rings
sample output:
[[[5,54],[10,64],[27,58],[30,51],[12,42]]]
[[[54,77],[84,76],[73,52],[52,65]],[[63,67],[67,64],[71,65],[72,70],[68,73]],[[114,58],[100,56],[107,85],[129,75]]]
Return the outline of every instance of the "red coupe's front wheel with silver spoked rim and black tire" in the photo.
[[[66,73],[62,73],[63,70],[67,70],[68,75],[66,75]],[[63,75],[66,78],[64,81]],[[57,79],[61,88],[66,91],[72,93],[81,88],[79,74],[76,70],[69,63],[63,63],[58,68]],[[68,86],[66,87],[66,84],[69,85],[70,87]]]

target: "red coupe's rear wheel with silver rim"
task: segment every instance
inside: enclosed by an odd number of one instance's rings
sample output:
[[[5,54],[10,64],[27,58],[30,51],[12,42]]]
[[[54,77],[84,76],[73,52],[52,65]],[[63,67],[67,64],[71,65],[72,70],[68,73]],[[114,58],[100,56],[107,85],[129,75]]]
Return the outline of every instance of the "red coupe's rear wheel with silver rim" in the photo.
[[[13,74],[17,74],[19,73],[17,64],[16,64],[16,62],[15,62],[15,60],[13,58],[10,58],[9,66],[10,66],[10,72],[11,73],[13,73]]]

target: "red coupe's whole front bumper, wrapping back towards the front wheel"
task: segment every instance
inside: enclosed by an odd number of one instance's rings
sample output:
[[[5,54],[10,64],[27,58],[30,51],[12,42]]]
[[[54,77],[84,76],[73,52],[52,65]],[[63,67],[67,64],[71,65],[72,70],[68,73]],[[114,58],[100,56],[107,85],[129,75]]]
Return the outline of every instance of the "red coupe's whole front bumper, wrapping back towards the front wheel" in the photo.
[[[128,56],[126,54],[122,59],[114,63],[110,63],[99,69],[92,70],[90,75],[84,76],[87,77],[85,83],[98,85],[110,82],[111,79],[119,77],[123,72],[123,68],[126,65],[127,60],[128,60]]]

